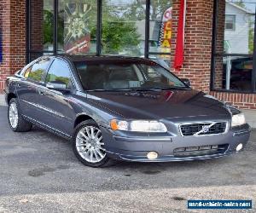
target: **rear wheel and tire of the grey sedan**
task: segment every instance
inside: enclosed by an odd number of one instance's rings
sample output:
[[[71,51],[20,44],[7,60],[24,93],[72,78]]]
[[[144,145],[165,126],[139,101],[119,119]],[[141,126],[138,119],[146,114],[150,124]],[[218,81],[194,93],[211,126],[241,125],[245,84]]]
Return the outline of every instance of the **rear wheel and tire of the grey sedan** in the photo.
[[[14,132],[26,132],[32,129],[32,124],[22,118],[19,103],[16,98],[9,101],[8,121],[10,129]]]

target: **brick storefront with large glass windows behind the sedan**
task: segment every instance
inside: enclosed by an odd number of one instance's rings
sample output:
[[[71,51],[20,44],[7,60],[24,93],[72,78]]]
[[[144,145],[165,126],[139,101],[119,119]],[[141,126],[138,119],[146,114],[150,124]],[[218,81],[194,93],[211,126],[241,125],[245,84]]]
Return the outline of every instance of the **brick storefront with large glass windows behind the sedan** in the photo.
[[[177,71],[180,0],[1,0],[0,90],[7,76],[40,55],[135,55],[171,61],[170,70],[194,89],[256,109],[255,4],[187,0]]]

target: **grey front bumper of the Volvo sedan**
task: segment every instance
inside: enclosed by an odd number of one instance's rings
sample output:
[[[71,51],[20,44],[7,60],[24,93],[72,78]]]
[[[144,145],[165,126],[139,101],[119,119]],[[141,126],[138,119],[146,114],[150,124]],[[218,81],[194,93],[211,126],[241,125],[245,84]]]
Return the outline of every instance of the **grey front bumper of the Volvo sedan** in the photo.
[[[245,147],[250,132],[251,128],[248,124],[230,129],[227,133],[221,135],[185,137],[181,135],[114,135],[112,130],[102,128],[108,157],[136,162],[171,162],[223,157],[238,153],[236,147],[240,143]],[[176,150],[180,148],[199,147],[201,149],[201,147],[207,146],[222,148],[212,149],[209,152],[197,150],[184,154],[176,153]],[[147,158],[147,154],[153,151],[158,153],[159,156],[150,160]]]

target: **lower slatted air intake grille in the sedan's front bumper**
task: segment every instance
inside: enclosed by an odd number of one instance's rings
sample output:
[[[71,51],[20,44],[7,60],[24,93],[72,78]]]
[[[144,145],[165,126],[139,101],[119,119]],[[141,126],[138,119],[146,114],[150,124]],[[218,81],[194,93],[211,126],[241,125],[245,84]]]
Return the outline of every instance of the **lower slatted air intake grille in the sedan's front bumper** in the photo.
[[[212,155],[212,154],[224,153],[228,147],[229,147],[228,144],[208,145],[208,146],[200,146],[200,147],[182,147],[182,148],[174,149],[173,154],[174,154],[174,157],[177,157],[177,158]]]

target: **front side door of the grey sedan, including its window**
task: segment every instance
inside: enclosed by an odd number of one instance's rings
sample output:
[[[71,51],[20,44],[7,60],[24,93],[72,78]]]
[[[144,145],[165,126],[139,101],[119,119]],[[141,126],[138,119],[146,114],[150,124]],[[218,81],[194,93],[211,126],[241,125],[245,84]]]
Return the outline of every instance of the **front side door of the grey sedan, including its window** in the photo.
[[[46,85],[62,83],[63,89],[47,88]],[[45,78],[44,88],[40,89],[40,105],[44,107],[42,115],[43,123],[55,130],[61,131],[67,135],[73,132],[73,121],[75,112],[70,105],[69,98],[71,91],[74,90],[71,70],[66,61],[55,59]],[[69,92],[68,92],[69,91]]]

